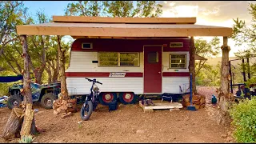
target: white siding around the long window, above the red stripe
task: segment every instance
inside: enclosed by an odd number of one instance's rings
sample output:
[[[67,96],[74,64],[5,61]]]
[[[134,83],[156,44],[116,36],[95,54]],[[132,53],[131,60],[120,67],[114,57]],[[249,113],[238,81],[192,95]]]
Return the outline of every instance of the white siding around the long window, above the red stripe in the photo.
[[[99,67],[98,52],[71,51],[70,67],[66,72],[143,72],[143,53],[140,53],[139,67]]]

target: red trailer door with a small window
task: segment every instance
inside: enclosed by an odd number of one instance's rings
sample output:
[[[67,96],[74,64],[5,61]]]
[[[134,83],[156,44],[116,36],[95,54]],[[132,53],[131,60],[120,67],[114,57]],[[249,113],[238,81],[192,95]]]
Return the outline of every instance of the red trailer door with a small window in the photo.
[[[162,46],[144,46],[144,93],[162,93]]]

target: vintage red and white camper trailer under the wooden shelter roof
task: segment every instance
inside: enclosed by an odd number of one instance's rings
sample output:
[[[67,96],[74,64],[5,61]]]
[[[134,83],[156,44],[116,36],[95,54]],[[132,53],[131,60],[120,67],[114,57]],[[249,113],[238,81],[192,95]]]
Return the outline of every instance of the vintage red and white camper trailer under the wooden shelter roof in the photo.
[[[190,38],[78,38],[70,50],[70,94],[89,94],[96,78],[102,100],[134,102],[138,94],[180,94],[189,89]]]

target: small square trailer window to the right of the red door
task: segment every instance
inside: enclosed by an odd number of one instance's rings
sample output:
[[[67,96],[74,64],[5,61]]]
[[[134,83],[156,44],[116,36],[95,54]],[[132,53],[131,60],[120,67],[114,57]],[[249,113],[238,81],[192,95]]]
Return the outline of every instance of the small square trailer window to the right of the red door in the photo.
[[[170,54],[171,69],[186,69],[186,54]]]

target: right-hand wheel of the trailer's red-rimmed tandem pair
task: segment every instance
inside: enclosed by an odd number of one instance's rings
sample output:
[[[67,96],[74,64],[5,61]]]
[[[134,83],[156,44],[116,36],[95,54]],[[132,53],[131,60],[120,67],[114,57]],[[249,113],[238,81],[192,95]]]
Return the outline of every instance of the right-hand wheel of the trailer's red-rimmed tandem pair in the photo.
[[[122,104],[134,104],[137,100],[137,95],[133,92],[124,92],[119,94],[119,100]]]

